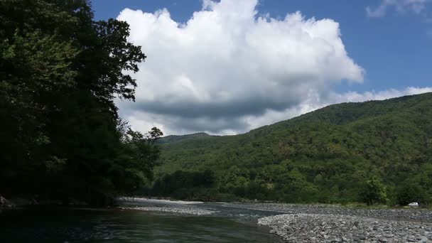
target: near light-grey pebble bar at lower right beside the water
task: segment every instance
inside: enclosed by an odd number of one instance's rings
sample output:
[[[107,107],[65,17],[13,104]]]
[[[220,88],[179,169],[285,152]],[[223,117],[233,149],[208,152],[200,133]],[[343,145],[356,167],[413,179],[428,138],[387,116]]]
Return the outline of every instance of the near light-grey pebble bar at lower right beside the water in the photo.
[[[289,214],[263,217],[286,242],[432,242],[432,224],[343,215]]]

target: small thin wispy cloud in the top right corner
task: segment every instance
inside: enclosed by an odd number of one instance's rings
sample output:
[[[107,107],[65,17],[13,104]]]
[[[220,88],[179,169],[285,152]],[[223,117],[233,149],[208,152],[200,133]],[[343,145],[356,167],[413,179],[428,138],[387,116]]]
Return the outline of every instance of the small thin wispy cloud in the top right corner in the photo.
[[[428,0],[382,0],[382,3],[376,8],[366,7],[367,16],[372,18],[384,17],[388,9],[394,8],[399,13],[412,11],[421,13]]]

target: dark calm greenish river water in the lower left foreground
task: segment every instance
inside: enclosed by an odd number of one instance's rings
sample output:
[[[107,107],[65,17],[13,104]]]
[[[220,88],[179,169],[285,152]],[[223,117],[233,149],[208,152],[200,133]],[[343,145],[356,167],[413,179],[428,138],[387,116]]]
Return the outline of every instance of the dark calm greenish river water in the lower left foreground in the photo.
[[[271,212],[202,204],[215,215],[27,208],[0,212],[0,242],[280,242],[257,218]]]

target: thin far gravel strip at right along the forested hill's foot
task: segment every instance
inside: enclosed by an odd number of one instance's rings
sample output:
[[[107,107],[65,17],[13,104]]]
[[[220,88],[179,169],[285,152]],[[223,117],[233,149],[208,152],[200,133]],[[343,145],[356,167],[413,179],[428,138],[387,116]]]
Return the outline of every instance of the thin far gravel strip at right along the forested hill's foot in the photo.
[[[230,203],[229,207],[264,210],[288,214],[349,215],[387,220],[405,220],[432,223],[432,211],[420,208],[369,209],[339,205],[294,205],[286,203]]]

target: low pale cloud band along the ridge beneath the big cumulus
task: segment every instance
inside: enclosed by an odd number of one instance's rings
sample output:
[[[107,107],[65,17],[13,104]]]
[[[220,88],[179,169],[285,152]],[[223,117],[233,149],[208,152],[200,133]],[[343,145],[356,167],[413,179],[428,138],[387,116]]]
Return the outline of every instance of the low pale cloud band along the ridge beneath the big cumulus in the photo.
[[[126,119],[135,129],[141,131],[148,131],[152,126],[158,126],[166,134],[191,134],[197,131],[205,131],[209,134],[228,135],[244,133],[260,126],[298,117],[301,114],[312,112],[330,104],[383,100],[404,95],[419,95],[426,92],[432,92],[432,87],[406,87],[404,90],[390,89],[379,92],[345,92],[342,94],[330,92],[325,97],[316,92],[311,92],[304,97],[300,104],[283,111],[267,109],[261,115],[244,115],[233,119],[211,120],[206,118],[184,119],[182,117],[136,111]],[[206,129],[207,124],[211,125],[211,129]]]

